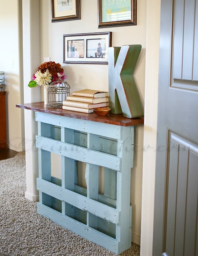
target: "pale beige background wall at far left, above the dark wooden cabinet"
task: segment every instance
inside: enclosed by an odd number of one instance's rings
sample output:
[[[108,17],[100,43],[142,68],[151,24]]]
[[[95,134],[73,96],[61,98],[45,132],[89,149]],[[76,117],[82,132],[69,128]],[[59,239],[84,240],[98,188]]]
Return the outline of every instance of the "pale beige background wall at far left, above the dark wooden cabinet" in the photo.
[[[24,150],[24,117],[15,107],[23,103],[21,1],[1,1],[0,70],[5,72],[8,148]],[[20,35],[20,36],[19,36]]]

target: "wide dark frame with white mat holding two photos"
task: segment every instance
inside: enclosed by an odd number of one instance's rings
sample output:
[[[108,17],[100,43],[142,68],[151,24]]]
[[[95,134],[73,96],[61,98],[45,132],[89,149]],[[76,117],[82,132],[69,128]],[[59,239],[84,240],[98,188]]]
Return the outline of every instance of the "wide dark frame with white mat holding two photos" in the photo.
[[[112,32],[63,35],[63,63],[108,64]]]

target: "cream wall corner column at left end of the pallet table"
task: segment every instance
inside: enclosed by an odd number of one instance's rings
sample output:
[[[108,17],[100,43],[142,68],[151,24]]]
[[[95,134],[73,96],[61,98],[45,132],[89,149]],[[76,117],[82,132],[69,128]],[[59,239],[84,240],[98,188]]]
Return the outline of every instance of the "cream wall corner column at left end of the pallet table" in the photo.
[[[21,0],[20,0],[21,1]],[[22,0],[23,17],[23,82],[24,103],[41,101],[41,88],[37,86],[30,90],[27,84],[31,74],[40,63],[40,0]],[[25,110],[25,144],[26,144],[26,192],[25,197],[38,201],[39,192],[36,189],[38,177],[38,152],[35,147],[37,124],[35,113]]]

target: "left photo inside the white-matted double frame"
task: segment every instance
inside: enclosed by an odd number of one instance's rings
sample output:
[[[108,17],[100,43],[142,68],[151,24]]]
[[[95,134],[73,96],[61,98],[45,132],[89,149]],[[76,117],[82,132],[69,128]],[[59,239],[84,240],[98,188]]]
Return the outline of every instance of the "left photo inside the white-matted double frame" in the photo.
[[[67,41],[67,58],[84,58],[84,40]]]

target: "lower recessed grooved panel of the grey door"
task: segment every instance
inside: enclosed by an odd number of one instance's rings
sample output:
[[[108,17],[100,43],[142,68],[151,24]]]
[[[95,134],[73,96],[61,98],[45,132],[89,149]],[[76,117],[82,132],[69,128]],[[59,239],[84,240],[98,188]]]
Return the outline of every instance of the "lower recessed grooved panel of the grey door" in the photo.
[[[166,148],[163,251],[171,256],[195,255],[198,144],[168,130]]]

